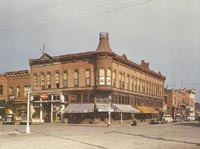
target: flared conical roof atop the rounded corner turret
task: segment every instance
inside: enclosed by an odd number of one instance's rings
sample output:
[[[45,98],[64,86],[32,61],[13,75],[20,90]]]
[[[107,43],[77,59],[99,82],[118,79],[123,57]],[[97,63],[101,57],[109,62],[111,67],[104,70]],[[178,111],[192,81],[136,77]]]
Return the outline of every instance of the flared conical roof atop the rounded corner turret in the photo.
[[[113,53],[112,49],[109,45],[109,34],[106,32],[102,32],[99,34],[99,45],[96,49],[96,52],[109,52]]]

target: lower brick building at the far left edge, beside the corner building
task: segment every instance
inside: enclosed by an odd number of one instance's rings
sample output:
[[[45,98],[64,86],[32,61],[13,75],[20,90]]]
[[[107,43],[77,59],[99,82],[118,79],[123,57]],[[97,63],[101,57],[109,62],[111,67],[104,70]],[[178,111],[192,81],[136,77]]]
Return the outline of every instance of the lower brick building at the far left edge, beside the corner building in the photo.
[[[27,87],[30,86],[28,70],[6,72],[0,75],[0,100],[4,105],[1,111],[10,110],[16,116],[26,112]]]

